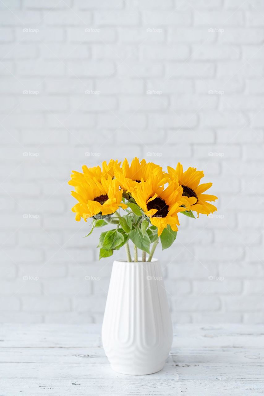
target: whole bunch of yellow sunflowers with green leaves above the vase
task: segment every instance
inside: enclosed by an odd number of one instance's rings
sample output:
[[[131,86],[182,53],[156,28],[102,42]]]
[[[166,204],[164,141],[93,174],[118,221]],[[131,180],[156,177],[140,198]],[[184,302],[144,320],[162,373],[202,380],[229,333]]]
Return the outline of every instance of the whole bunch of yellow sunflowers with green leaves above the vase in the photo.
[[[162,249],[170,247],[176,239],[178,213],[196,218],[193,212],[209,215],[217,210],[210,202],[215,195],[203,194],[212,183],[202,183],[203,171],[182,164],[167,167],[167,172],[153,162],[140,162],[134,158],[129,165],[110,160],[102,167],[82,167],[83,172],[72,171],[74,186],[72,196],[78,203],[72,211],[76,221],[92,219],[89,236],[95,227],[113,225],[99,238],[99,259],[110,257],[114,250],[125,246],[127,261],[132,262],[128,241],[134,244],[134,262],[138,261],[138,249],[142,261],[151,261],[159,240]],[[122,212],[120,213],[120,209]]]

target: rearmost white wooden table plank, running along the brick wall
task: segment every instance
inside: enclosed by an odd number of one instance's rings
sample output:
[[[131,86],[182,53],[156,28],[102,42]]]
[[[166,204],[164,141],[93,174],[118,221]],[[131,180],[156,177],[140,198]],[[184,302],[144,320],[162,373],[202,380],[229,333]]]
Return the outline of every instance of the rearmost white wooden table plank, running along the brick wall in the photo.
[[[89,343],[89,345],[87,344]],[[100,325],[2,325],[1,346],[101,346]],[[177,326],[173,348],[178,347],[253,347],[264,346],[264,326]]]

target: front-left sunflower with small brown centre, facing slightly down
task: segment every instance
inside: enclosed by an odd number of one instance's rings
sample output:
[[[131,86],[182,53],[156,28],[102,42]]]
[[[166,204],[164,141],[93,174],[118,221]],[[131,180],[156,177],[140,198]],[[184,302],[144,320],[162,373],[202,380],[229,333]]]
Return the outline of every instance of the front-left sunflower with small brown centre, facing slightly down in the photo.
[[[70,182],[69,182],[70,183]],[[81,217],[86,221],[87,217],[93,217],[98,213],[110,215],[120,206],[123,209],[127,205],[122,202],[123,191],[119,189],[116,179],[101,177],[99,182],[96,178],[85,179],[80,185],[75,185],[75,191],[72,196],[78,200],[72,211],[76,213],[75,219],[80,221]]]

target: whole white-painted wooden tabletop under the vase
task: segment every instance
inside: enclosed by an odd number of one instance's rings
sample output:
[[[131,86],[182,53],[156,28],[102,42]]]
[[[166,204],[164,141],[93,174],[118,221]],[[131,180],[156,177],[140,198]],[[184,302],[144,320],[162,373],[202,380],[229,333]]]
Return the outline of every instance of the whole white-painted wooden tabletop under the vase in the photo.
[[[264,326],[181,325],[163,370],[110,368],[98,325],[0,325],[1,396],[264,395]]]

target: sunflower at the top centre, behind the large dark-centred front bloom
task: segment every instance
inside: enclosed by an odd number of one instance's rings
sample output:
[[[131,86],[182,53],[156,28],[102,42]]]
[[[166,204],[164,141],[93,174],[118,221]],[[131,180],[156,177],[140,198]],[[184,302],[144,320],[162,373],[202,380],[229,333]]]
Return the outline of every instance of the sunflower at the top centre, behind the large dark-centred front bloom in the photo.
[[[146,181],[150,175],[157,176],[160,185],[164,185],[164,173],[161,166],[153,162],[146,162],[146,160],[139,162],[137,157],[133,158],[130,166],[126,158],[121,168],[117,165],[114,166],[114,175],[118,179],[120,187],[127,192],[134,192],[142,179]]]

